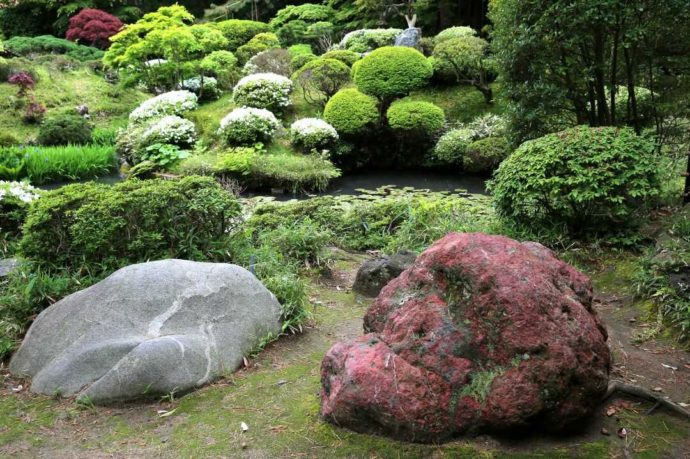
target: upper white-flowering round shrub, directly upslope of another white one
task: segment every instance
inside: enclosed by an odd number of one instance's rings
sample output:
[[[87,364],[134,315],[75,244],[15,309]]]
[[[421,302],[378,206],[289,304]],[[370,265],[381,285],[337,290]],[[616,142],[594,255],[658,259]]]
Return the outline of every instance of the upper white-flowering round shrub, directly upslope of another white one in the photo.
[[[235,105],[280,112],[290,106],[292,81],[275,73],[255,73],[242,78],[233,90]]]

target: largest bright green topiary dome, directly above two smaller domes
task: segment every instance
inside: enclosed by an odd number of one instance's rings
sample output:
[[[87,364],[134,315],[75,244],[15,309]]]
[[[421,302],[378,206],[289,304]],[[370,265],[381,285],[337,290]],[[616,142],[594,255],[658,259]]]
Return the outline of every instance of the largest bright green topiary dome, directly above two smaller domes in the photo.
[[[364,57],[353,69],[357,89],[387,101],[427,84],[433,69],[419,51],[387,46]]]

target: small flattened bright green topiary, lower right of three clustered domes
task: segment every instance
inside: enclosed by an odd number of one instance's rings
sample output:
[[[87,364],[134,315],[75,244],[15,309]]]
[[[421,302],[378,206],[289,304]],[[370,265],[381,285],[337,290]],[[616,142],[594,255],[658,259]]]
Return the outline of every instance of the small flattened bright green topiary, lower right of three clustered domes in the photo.
[[[398,100],[386,113],[388,125],[396,131],[433,136],[446,124],[443,109],[431,102]]]

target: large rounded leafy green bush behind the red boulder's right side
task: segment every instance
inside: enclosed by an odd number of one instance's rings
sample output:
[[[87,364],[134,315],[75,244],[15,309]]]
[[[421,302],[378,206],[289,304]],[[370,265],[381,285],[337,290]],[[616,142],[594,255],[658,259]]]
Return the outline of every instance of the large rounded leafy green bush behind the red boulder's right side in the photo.
[[[577,127],[520,146],[489,188],[499,215],[573,236],[630,227],[659,194],[654,143],[632,129]]]

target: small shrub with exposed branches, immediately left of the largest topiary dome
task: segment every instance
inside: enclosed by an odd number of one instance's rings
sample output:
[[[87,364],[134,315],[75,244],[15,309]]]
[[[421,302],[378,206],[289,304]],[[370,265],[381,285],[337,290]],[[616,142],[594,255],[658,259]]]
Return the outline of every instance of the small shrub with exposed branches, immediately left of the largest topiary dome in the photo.
[[[336,59],[318,58],[295,72],[293,79],[307,103],[323,106],[350,81],[350,68]]]

